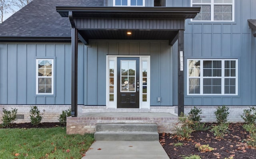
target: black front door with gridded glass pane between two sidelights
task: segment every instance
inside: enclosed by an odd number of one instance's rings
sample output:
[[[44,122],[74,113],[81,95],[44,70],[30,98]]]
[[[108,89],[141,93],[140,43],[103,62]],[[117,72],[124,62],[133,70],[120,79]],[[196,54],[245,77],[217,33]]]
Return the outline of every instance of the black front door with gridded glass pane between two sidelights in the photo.
[[[140,108],[140,58],[117,58],[117,108]]]

